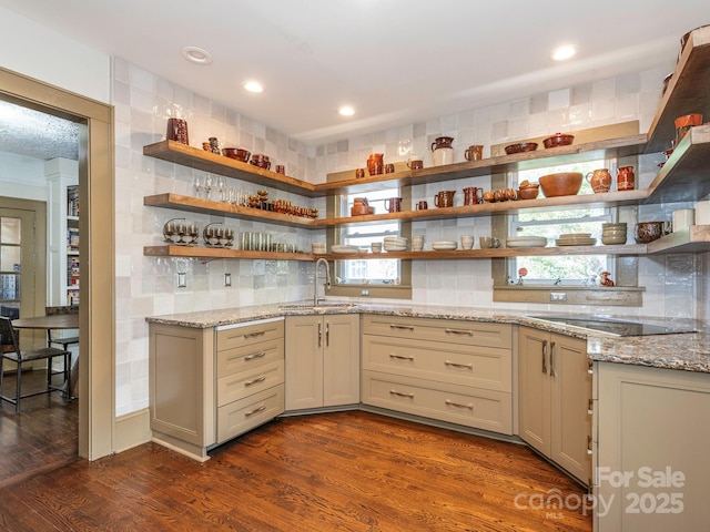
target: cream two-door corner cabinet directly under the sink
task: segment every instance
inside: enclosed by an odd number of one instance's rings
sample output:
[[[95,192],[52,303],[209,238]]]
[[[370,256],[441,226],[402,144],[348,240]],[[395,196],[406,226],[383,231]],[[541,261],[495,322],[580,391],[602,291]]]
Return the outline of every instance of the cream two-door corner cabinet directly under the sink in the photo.
[[[359,315],[286,318],[286,410],[359,403]]]

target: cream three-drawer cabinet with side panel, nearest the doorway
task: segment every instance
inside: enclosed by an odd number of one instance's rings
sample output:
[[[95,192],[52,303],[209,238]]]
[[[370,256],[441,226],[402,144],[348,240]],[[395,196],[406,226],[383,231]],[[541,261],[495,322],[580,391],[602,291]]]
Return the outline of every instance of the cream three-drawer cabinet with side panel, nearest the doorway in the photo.
[[[150,324],[153,440],[199,460],[284,411],[284,320]]]

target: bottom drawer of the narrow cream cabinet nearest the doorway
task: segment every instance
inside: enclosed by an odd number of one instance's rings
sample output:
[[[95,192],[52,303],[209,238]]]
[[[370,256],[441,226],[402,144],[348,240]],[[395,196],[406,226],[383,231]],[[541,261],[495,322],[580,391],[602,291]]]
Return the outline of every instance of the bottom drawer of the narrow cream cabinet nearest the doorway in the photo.
[[[284,385],[217,408],[217,443],[270,421],[284,411]]]

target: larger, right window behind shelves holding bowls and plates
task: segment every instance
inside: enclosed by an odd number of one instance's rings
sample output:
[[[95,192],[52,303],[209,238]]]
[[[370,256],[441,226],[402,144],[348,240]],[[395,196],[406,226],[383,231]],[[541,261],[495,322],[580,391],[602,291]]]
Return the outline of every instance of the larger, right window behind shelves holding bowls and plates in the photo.
[[[521,171],[515,175],[515,182],[525,180],[536,182],[540,175],[556,172],[581,172],[582,175],[609,167],[610,162],[598,160],[581,164],[547,167],[535,171]],[[582,180],[579,194],[591,194],[591,186]],[[604,207],[575,207],[564,211],[534,212],[524,211],[509,217],[509,234],[515,236],[544,236],[548,245],[562,234],[589,233],[597,242],[601,238],[601,224],[613,222],[615,212]],[[508,279],[520,280],[526,285],[594,285],[598,283],[601,272],[615,273],[615,262],[610,256],[599,255],[555,255],[521,256],[508,262]]]

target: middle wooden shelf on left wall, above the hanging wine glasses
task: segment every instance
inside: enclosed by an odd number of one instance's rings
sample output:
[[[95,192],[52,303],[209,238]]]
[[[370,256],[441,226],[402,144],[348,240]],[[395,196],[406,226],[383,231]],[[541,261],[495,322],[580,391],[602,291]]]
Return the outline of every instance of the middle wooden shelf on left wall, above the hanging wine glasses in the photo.
[[[290,225],[311,228],[315,225],[315,219],[305,216],[293,216],[291,214],[273,213],[261,208],[250,208],[231,203],[202,200],[200,197],[184,196],[181,194],[155,194],[143,197],[143,205],[161,208],[174,208],[190,213],[222,215],[230,218],[245,218],[260,222],[267,222],[276,225]]]

